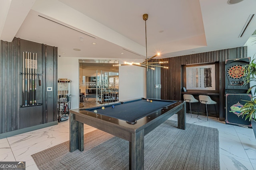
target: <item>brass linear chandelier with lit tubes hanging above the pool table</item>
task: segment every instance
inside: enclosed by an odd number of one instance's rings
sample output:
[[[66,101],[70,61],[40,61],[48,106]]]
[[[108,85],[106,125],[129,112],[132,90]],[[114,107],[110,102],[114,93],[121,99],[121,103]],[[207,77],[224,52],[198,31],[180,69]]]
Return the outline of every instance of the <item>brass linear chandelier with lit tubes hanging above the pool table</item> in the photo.
[[[159,56],[160,53],[157,53],[156,55],[154,55],[153,57],[150,57],[148,59],[148,50],[147,50],[147,25],[146,25],[146,20],[148,20],[148,14],[143,14],[143,20],[145,21],[145,33],[146,33],[146,60],[142,63],[129,63],[129,62],[124,62],[124,64],[114,64],[113,66],[127,66],[127,65],[134,65],[134,66],[141,66],[144,68],[150,68],[152,70],[154,70],[154,67],[161,67],[161,68],[168,68],[167,66],[159,66],[159,65],[153,65],[153,64],[163,64],[163,63],[168,63],[168,61],[159,61],[159,62],[152,62],[149,63],[148,61],[150,61],[151,59],[153,59],[156,56]]]

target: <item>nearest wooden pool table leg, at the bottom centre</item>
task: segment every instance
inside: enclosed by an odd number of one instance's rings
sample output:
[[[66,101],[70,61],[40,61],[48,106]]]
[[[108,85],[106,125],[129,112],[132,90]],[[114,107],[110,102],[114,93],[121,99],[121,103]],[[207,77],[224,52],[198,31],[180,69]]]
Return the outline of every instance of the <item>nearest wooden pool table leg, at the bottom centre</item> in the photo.
[[[144,129],[138,133],[132,133],[132,141],[129,142],[129,170],[144,169]]]

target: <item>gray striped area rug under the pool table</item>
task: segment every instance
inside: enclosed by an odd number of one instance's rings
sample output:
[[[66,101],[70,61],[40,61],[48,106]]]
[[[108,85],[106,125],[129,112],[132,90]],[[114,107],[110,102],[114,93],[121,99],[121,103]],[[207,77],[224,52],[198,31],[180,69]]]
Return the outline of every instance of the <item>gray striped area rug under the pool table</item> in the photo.
[[[32,155],[40,170],[127,170],[129,142],[100,130],[84,135],[84,151],[69,141]],[[218,129],[167,120],[145,136],[145,170],[219,170]]]

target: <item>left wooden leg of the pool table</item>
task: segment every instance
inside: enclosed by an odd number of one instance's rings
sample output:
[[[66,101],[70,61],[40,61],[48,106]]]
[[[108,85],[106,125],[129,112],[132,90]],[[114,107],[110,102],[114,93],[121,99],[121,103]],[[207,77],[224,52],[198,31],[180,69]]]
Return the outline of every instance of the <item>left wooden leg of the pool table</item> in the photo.
[[[76,149],[80,151],[84,150],[84,123],[76,121],[74,119],[74,114],[69,114],[69,151],[73,152]]]

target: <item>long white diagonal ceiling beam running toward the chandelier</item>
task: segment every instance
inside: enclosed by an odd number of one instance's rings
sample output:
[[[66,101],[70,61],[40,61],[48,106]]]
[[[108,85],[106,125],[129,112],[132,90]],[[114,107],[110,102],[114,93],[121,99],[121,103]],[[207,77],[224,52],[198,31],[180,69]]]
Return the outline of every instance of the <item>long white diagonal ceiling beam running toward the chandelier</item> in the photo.
[[[43,14],[46,18],[50,17],[50,19],[64,23],[65,25],[72,25],[72,27],[76,29],[80,29],[95,37],[102,38],[140,55],[146,54],[145,47],[142,45],[128,39],[98,21],[92,20],[88,16],[85,16],[58,0],[37,0],[32,10]]]

